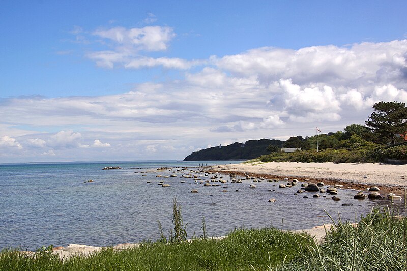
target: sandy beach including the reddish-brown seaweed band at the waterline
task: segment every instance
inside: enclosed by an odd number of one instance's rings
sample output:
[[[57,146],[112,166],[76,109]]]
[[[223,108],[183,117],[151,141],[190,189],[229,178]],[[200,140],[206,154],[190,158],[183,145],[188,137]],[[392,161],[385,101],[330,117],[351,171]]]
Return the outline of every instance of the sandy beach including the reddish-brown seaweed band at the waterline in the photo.
[[[404,187],[407,187],[407,164],[253,162],[215,166],[210,170],[242,175],[249,172],[253,176],[268,178],[323,180],[328,185],[342,184],[345,188],[357,190],[374,185],[383,192],[398,195],[403,195]]]

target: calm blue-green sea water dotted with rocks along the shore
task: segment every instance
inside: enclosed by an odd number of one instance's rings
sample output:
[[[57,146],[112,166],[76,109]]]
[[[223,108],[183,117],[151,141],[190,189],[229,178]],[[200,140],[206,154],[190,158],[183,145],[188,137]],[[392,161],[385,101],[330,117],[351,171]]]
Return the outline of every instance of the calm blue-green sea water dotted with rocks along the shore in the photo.
[[[312,198],[311,193],[294,195],[299,186],[279,189],[279,183],[226,183],[220,187],[203,187],[193,178],[160,178],[172,171],[155,169],[197,167],[238,161],[148,161],[117,163],[66,163],[0,165],[0,248],[19,246],[35,249],[42,245],[67,246],[86,244],[108,246],[137,243],[159,238],[158,221],[164,233],[172,225],[172,200],[182,205],[187,232],[201,235],[205,217],[210,235],[224,235],[238,227],[275,226],[305,229],[330,223],[324,210],[334,218],[355,220],[374,205],[389,201],[357,201],[355,191],[340,190],[342,200]],[[122,170],[102,170],[120,166]],[[198,168],[191,168],[198,170]],[[135,173],[137,172],[137,173]],[[210,176],[204,173],[202,180]],[[144,175],[144,176],[143,176]],[[93,183],[85,183],[87,180]],[[228,176],[224,179],[229,180]],[[157,185],[161,180],[170,187]],[[182,183],[185,181],[185,183]],[[148,183],[150,182],[150,183]],[[274,186],[276,185],[276,186]],[[227,188],[223,187],[227,186]],[[197,189],[199,193],[191,193]],[[275,191],[269,191],[269,190]],[[228,190],[228,192],[222,192]],[[235,192],[239,190],[239,192]],[[308,199],[304,199],[307,194]],[[268,199],[276,202],[269,203]],[[353,206],[341,206],[353,203]],[[400,203],[401,205],[401,203]]]

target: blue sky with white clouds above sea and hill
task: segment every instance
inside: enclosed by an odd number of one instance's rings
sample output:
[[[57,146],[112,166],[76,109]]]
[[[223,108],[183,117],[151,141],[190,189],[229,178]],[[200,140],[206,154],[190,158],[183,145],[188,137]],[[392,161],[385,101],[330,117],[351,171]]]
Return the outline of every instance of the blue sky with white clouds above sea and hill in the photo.
[[[0,163],[182,160],[407,102],[406,1],[0,2]]]

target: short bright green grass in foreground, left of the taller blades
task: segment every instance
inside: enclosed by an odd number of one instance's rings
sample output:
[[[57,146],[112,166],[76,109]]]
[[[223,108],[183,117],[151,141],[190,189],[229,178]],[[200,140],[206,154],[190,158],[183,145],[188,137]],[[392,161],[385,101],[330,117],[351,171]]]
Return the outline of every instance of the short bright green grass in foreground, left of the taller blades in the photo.
[[[47,251],[39,257],[3,251],[1,270],[269,270],[315,246],[307,235],[275,228],[238,229],[222,240],[142,243],[120,252],[107,248],[91,257],[60,261]],[[271,265],[271,266],[270,266]]]

